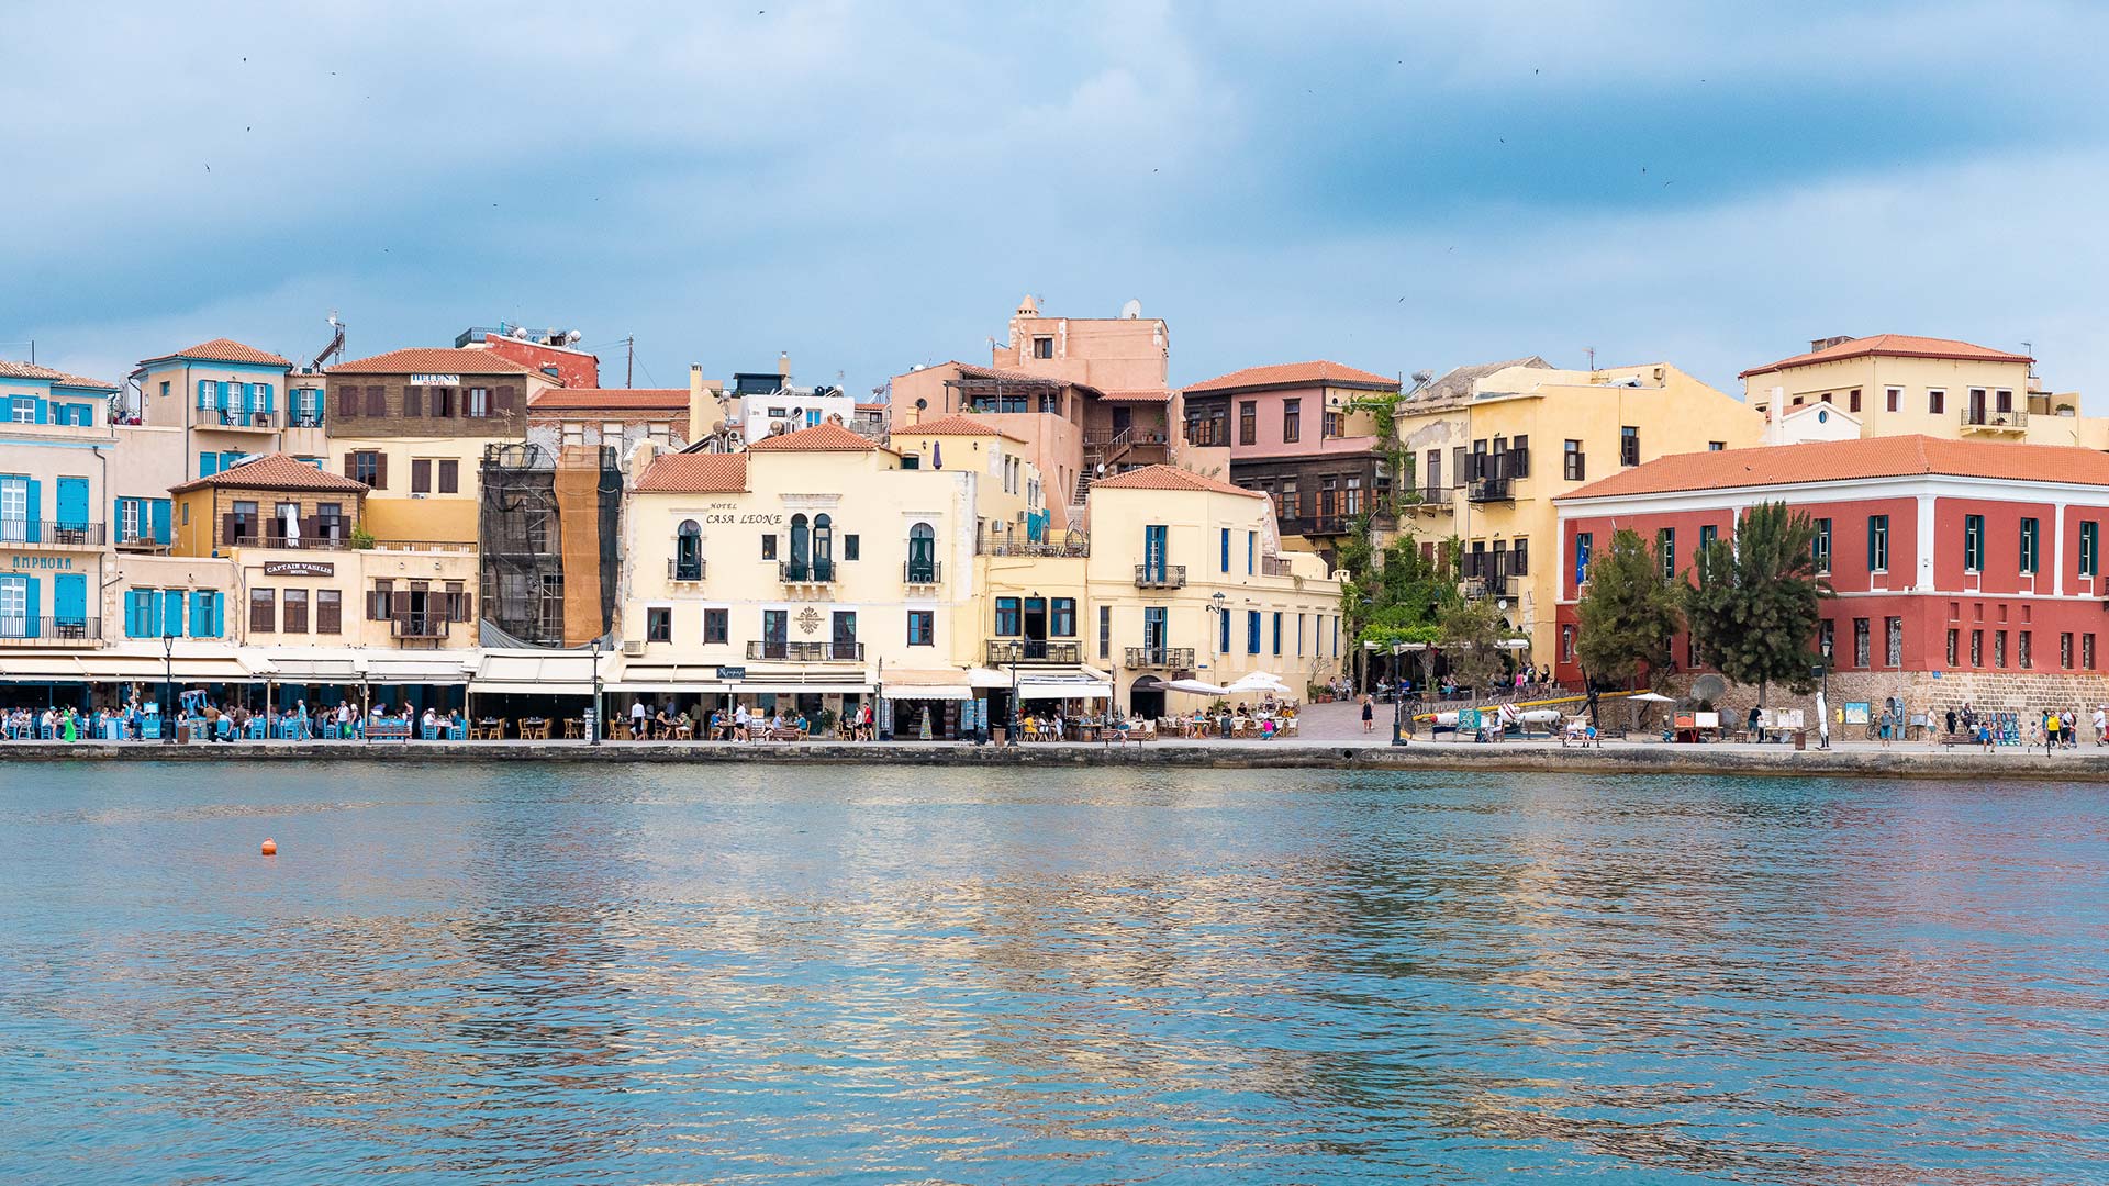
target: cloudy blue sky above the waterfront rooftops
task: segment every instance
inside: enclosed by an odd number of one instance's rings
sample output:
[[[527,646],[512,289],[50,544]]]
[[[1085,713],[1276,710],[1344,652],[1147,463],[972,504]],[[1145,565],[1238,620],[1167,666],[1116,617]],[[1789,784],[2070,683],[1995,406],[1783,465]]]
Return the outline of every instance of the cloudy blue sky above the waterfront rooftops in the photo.
[[[1036,293],[1141,300],[1175,384],[1594,348],[1740,395],[1926,333],[2109,412],[2105,8],[30,0],[0,357],[304,361],[335,310],[863,395]]]

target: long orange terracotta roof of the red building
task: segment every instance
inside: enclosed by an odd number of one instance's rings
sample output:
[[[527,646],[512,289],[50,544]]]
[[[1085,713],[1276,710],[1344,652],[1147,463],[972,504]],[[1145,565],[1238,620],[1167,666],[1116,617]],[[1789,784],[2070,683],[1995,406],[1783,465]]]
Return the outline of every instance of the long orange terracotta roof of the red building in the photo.
[[[1559,500],[1909,475],[2109,485],[2109,454],[2077,445],[2010,445],[1942,437],[1862,437],[1805,445],[1761,445],[1656,458],[1563,494]]]

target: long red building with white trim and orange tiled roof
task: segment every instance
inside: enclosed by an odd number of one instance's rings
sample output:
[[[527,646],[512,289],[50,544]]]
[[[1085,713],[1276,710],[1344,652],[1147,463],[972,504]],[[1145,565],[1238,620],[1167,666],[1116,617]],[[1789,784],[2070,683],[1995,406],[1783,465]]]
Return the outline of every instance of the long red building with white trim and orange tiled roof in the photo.
[[[2103,523],[2109,454],[2063,445],[1871,437],[1677,454],[1559,498],[1554,669],[1580,680],[1575,597],[1588,561],[1630,528],[1689,580],[1694,553],[1757,502],[1818,528],[1833,696],[1942,707],[2073,707],[2109,699]],[[1687,637],[1675,639],[1691,669]]]

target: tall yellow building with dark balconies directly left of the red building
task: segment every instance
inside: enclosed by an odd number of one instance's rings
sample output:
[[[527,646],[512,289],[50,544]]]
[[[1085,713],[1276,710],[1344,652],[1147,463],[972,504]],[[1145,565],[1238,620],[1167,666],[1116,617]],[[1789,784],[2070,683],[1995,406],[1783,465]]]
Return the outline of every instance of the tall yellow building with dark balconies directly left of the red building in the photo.
[[[1757,445],[1765,433],[1755,409],[1668,363],[1567,371],[1542,359],[1453,371],[1400,401],[1396,422],[1415,464],[1400,530],[1424,551],[1455,536],[1466,595],[1499,599],[1537,663],[1554,652],[1552,500],[1666,454]]]

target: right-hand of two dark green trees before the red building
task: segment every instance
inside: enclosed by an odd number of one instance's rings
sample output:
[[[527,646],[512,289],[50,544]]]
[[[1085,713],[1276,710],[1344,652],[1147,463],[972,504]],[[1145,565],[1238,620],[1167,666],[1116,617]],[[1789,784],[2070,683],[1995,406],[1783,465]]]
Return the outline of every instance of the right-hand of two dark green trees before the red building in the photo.
[[[1685,618],[1706,661],[1738,684],[1772,684],[1807,694],[1818,663],[1812,646],[1831,582],[1816,574],[1816,523],[1786,502],[1759,502],[1736,523],[1736,542],[1691,553]]]

